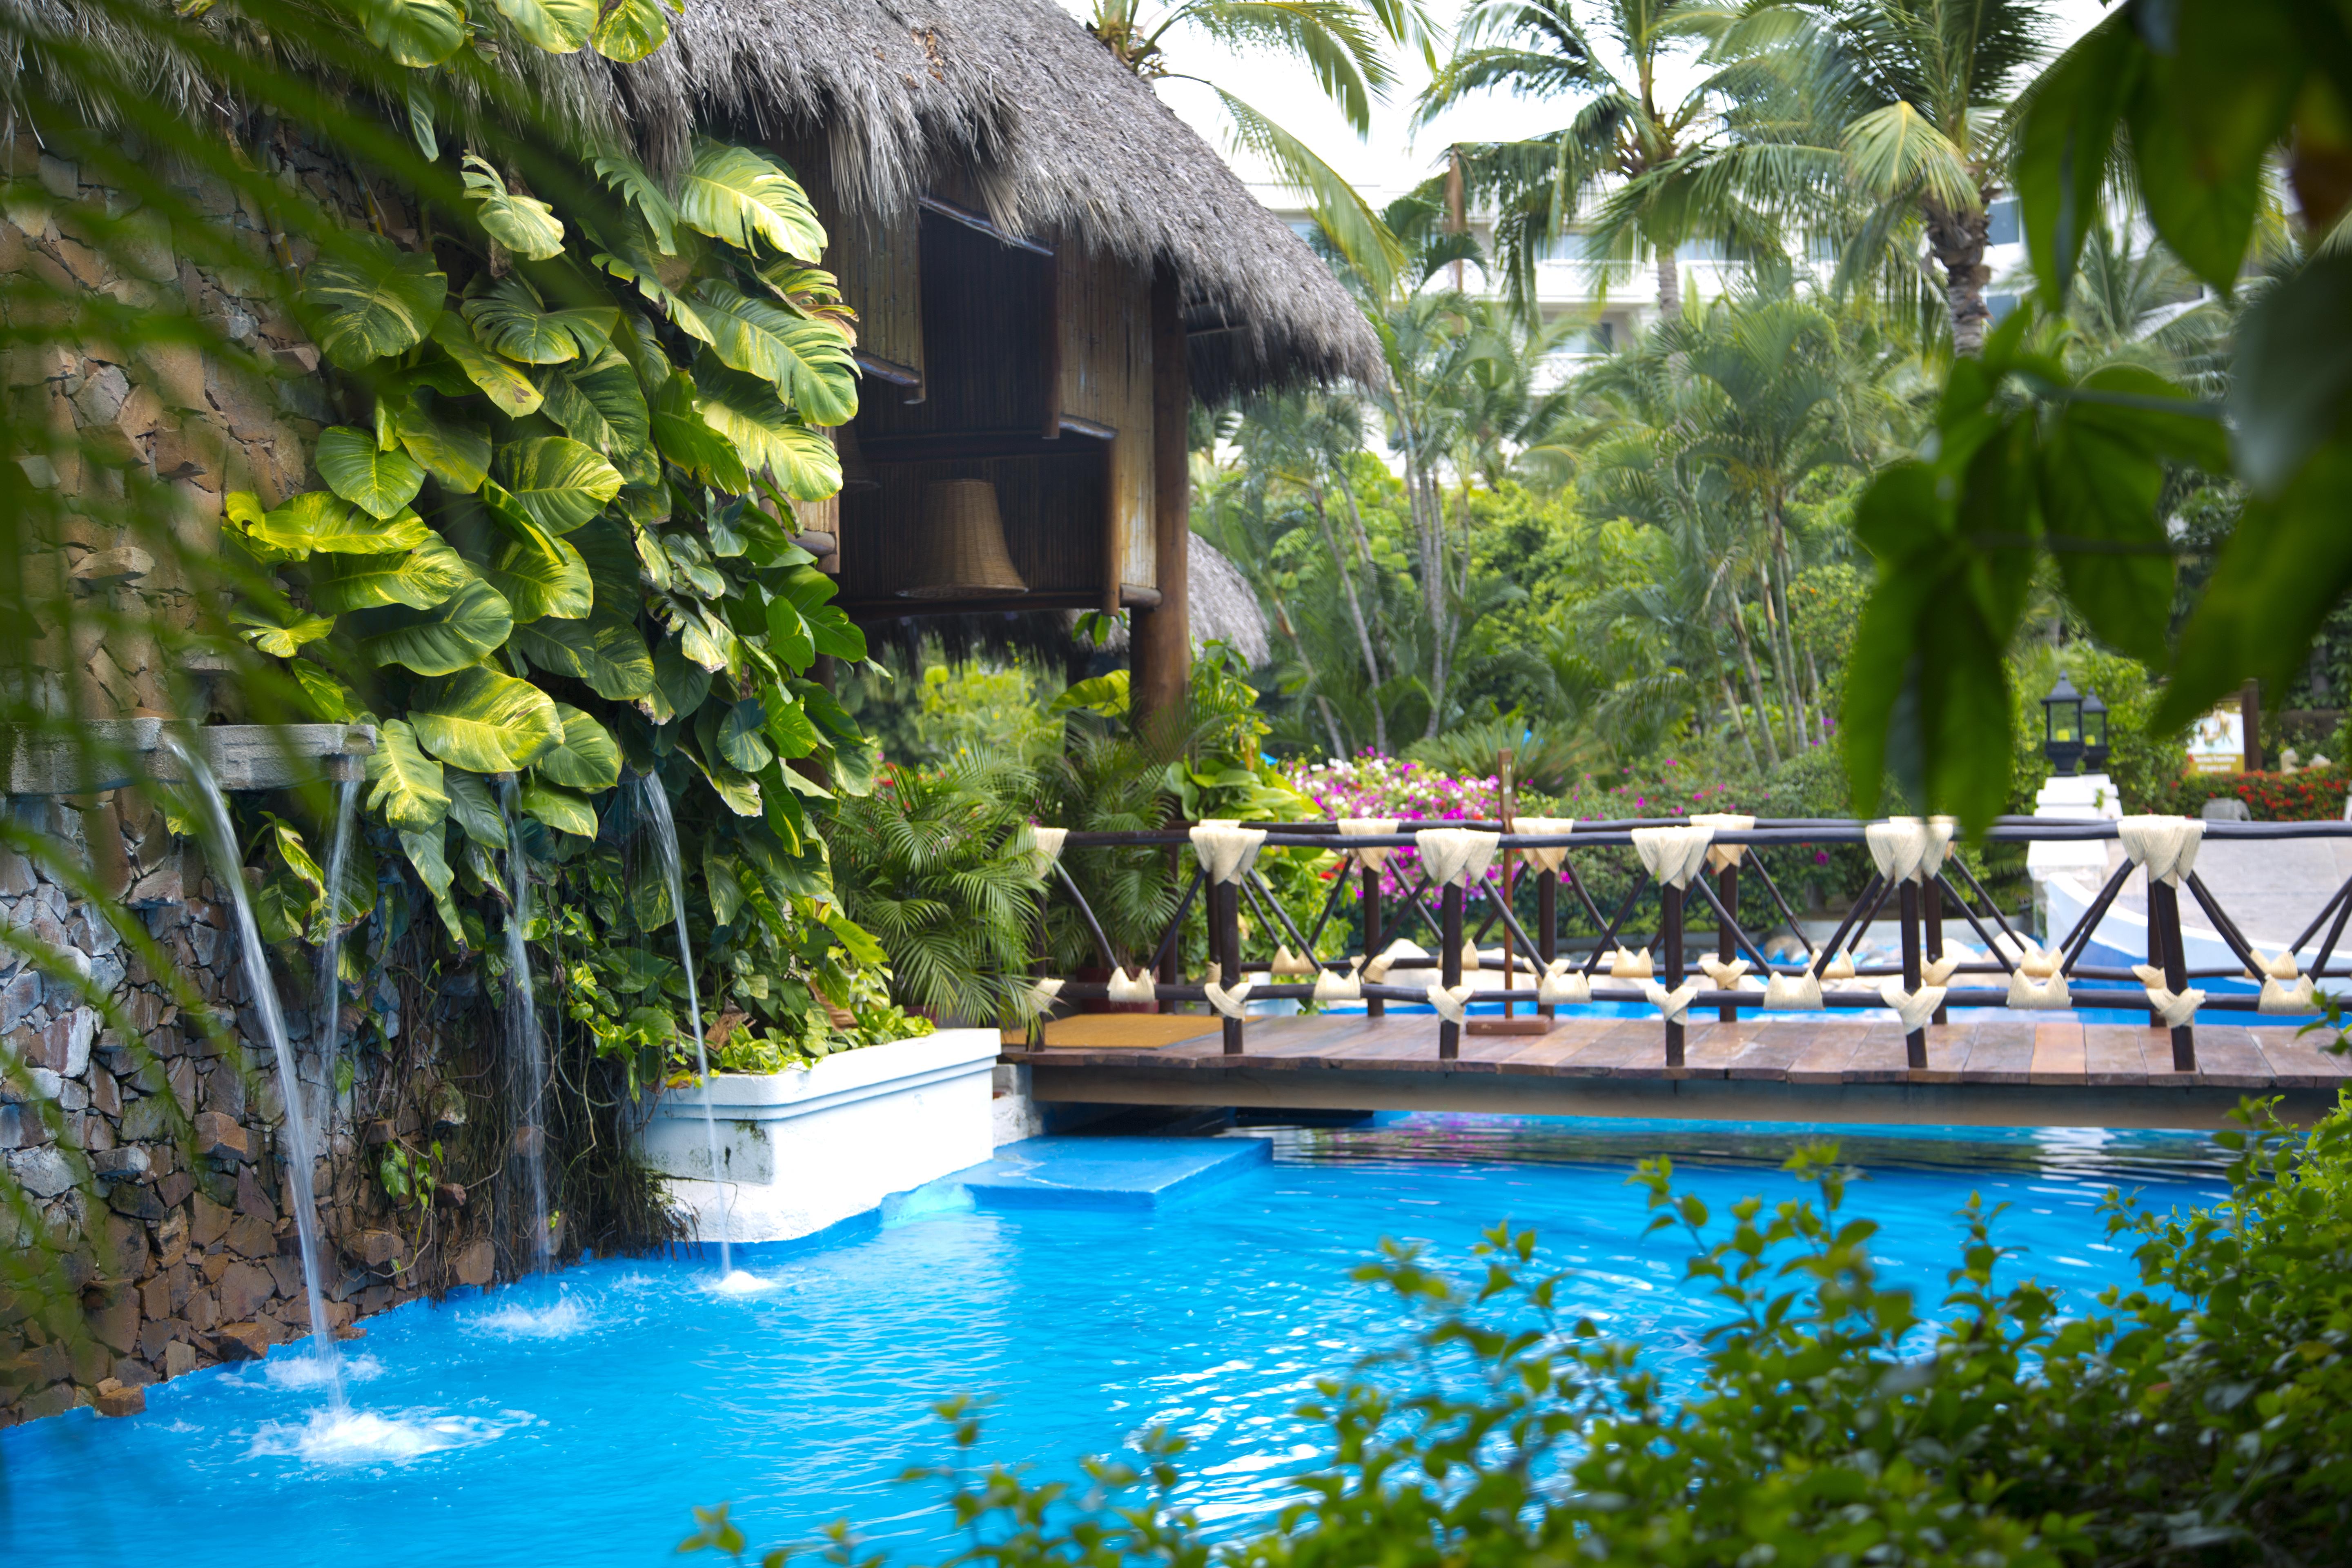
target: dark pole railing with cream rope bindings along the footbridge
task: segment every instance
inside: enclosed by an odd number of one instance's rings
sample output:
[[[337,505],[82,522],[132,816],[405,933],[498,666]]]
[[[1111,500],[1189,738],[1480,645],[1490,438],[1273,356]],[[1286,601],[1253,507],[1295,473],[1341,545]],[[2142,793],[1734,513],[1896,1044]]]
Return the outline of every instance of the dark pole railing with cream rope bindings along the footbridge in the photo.
[[[2352,922],[2352,879],[2336,889],[2307,929],[2281,952],[2258,952],[2213,891],[2197,877],[2204,842],[2343,839],[2352,823],[2227,823],[2197,818],[2049,820],[1999,818],[1994,844],[2119,842],[2122,863],[2105,877],[2072,929],[2046,947],[2018,931],[1969,870],[1950,853],[1947,818],[1637,818],[1569,823],[1555,818],[1496,820],[1343,820],[1343,823],[1200,823],[1169,832],[1037,835],[1040,860],[1051,863],[1049,898],[1068,898],[1110,980],[1040,978],[1040,999],[1070,1004],[1204,1001],[1223,1020],[1225,1053],[1247,1051],[1249,1004],[1270,999],[1362,1004],[1381,1018],[1390,1004],[1425,1004],[1437,1013],[1437,1056],[1461,1053],[1463,1030],[1522,1032],[1545,1023],[1470,1018],[1470,1004],[1526,1006],[1552,1018],[1583,1001],[1649,1004],[1663,1027],[1665,1065],[1679,1067],[1689,1013],[1712,1011],[1731,1023],[1759,1011],[1893,1009],[1905,1025],[1912,1067],[1926,1067],[1926,1025],[1945,1023],[1952,1006],[2006,1006],[2025,1016],[2077,1009],[2145,1009],[2152,1025],[2171,1030],[2173,1067],[2194,1070],[2199,1011],[2314,1013],[2317,983],[2352,973],[2338,964],[2338,943]],[[1863,844],[1875,872],[1828,940],[1804,936],[1771,875],[1771,851]],[[1148,954],[1117,952],[1061,856],[1077,849],[1167,846],[1190,851],[1190,877]],[[1345,856],[1312,926],[1301,929],[1275,896],[1256,858],[1265,849],[1319,849]],[[1642,877],[1604,910],[1576,872],[1595,849],[1632,849]],[[1390,865],[1414,851],[1414,865]],[[1501,867],[1501,886],[1486,889]],[[2145,964],[2086,961],[2100,922],[2133,872],[2147,882]],[[1519,884],[1534,877],[1536,914],[1522,924],[1512,907]],[[1773,959],[1740,924],[1743,877],[1762,884],[1769,905],[1795,931],[1802,957]],[[1392,879],[1392,889],[1383,882]],[[1477,889],[1477,891],[1472,891]],[[1331,922],[1355,893],[1359,952],[1317,959]],[[2183,893],[2211,924],[2190,931],[2223,964],[2190,964],[2183,938]],[[1559,924],[1566,900],[1599,931],[1588,954],[1564,952]],[[1204,905],[1211,971],[1178,973],[1185,922]],[[1244,907],[1256,943],[1244,952]],[[1712,914],[1708,952],[1693,950],[1691,914]],[[1858,961],[1872,922],[1891,912],[1900,929],[1900,961]],[[1472,919],[1477,924],[1472,924]],[[1945,954],[1945,933],[1964,929],[1980,957]],[[2324,931],[2305,971],[2300,954]],[[1409,936],[1435,952],[1404,952]],[[1468,971],[1496,969],[1498,987],[1468,987]],[[2206,992],[2197,980],[2260,980],[2260,992]]]

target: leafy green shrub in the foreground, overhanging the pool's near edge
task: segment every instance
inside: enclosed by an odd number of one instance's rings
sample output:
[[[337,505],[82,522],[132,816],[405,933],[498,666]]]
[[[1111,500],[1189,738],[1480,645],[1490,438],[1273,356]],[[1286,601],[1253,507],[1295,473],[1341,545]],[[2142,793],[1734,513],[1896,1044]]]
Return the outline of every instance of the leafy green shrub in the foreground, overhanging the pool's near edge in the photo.
[[[2110,1197],[2140,1291],[2060,1316],[1994,1286],[1999,1211],[1971,1201],[1936,1321],[1886,1286],[1842,1213],[1835,1147],[1790,1171],[1818,1204],[1745,1199],[1722,1227],[1649,1187],[1726,1307],[1684,1399],[1649,1352],[1564,1321],[1534,1232],[1496,1227],[1475,1286],[1390,1244],[1357,1279],[1418,1316],[1414,1349],[1317,1385],[1329,1458],[1254,1540],[1176,1509],[1183,1443],[1148,1474],[1091,1460],[1084,1490],[1011,1469],[946,1474],[988,1568],[1828,1568],[2324,1563],[2352,1526],[2352,1103],[2307,1138],[2246,1112],[2227,1201],[2154,1215]],[[1677,1352],[1684,1354],[1684,1352]],[[1404,1368],[1406,1387],[1399,1389]],[[969,1455],[978,1422],[941,1410]],[[684,1547],[741,1552],[727,1509]],[[781,1561],[776,1556],[767,1561]],[[837,1535],[828,1561],[863,1561]]]

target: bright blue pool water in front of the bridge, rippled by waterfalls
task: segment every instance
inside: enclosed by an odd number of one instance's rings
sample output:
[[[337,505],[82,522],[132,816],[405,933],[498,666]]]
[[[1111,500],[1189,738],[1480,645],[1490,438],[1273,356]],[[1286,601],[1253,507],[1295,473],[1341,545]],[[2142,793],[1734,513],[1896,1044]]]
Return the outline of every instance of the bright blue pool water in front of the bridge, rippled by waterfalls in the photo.
[[[306,1446],[320,1394],[282,1354],[148,1389],[139,1418],[0,1432],[0,1563],[661,1563],[717,1500],[757,1544],[847,1516],[927,1563],[962,1537],[936,1488],[896,1476],[946,1458],[929,1406],[962,1392],[993,1399],[983,1458],[1049,1474],[1150,1422],[1185,1432],[1185,1502],[1237,1530],[1317,1460],[1289,1415],[1312,1382],[1406,1331],[1348,1281],[1378,1239],[1465,1267],[1484,1225],[1536,1225],[1576,1269],[1566,1309],[1672,1378],[1717,1314],[1682,1286],[1684,1246],[1644,1239],[1632,1161],[1672,1152],[1717,1213],[1795,1190],[1773,1168],[1788,1128],[1414,1114],[1272,1138],[1272,1164],[1148,1213],[934,1192],[863,1234],[739,1253],[769,1281],[750,1295],[713,1293],[708,1262],[612,1260],[379,1316],[346,1347],[353,1406],[395,1422],[400,1455]],[[1886,1269],[1924,1300],[1971,1190],[2013,1206],[2013,1272],[2077,1307],[2133,1279],[2107,1187],[2157,1206],[2220,1190],[2213,1145],[2171,1133],[1851,1131],[1846,1157],[1870,1171],[1849,1211],[1884,1225]]]

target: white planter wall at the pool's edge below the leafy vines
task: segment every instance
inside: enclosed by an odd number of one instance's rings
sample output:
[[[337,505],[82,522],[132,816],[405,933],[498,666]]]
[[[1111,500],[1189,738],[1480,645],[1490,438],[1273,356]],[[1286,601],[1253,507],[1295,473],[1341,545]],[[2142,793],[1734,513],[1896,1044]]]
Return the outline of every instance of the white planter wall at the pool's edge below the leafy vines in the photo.
[[[995,1030],[938,1030],[771,1074],[717,1074],[717,1182],[703,1091],[670,1088],[644,1126],[644,1157],[670,1178],[699,1241],[790,1241],[875,1208],[891,1192],[995,1152]]]

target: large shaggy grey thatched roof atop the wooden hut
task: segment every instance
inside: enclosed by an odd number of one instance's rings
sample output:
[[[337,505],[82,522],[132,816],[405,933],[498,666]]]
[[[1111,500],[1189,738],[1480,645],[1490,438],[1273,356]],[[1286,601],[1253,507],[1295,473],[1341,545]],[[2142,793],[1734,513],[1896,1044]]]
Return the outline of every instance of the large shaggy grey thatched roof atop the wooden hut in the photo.
[[[854,212],[950,183],[1016,233],[1174,266],[1204,395],[1378,374],[1329,268],[1054,0],[691,0],[668,49],[593,68],[656,162],[696,125],[818,143]]]

